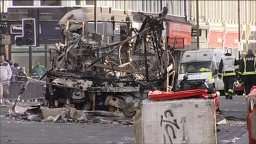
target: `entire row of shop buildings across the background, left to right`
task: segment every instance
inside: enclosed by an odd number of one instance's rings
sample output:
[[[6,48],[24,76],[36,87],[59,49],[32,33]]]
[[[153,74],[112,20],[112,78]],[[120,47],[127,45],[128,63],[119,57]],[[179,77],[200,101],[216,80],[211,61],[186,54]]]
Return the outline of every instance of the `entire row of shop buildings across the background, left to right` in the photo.
[[[51,67],[50,49],[60,42],[58,21],[70,10],[83,9],[88,19],[88,30],[94,31],[93,0],[27,0],[6,1],[1,4],[1,35],[10,35],[10,44],[4,45],[1,52],[6,52],[12,61],[19,61],[20,66],[28,67],[28,47],[15,45],[14,36],[21,35],[21,19],[28,17],[29,8],[40,11],[40,47],[33,48],[32,61],[40,60],[43,65]],[[182,51],[196,48],[196,1],[96,1],[97,20],[115,20],[131,22],[133,28],[140,28],[143,15],[158,15],[163,7],[168,8],[165,33],[172,47],[174,39],[177,60]],[[240,12],[238,12],[238,8]],[[233,51],[255,50],[256,47],[256,1],[198,1],[200,48],[227,49]],[[238,20],[240,15],[240,22]],[[117,23],[116,23],[117,24]],[[240,24],[240,25],[239,25]],[[105,26],[98,22],[98,33],[104,34]],[[240,31],[239,31],[240,28]],[[192,32],[191,32],[192,31]],[[239,42],[240,32],[240,42]],[[111,36],[118,40],[118,33]],[[106,36],[106,42],[111,42]],[[115,39],[114,38],[114,39]],[[104,39],[104,40],[105,40]],[[4,50],[3,50],[4,49]]]

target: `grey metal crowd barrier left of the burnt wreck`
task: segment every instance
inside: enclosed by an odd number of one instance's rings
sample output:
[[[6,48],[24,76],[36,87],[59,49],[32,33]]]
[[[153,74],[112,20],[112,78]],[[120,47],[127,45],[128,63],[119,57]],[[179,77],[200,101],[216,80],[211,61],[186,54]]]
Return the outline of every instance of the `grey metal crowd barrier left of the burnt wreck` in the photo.
[[[31,78],[38,79],[39,77],[31,76]],[[10,95],[8,100],[15,101],[17,95],[19,95],[20,87],[24,82],[24,76],[17,76],[15,79],[10,81]],[[44,84],[36,83],[34,81],[29,81],[26,86],[25,92],[20,97],[20,100],[24,100],[25,102],[34,101],[38,99],[44,99]]]

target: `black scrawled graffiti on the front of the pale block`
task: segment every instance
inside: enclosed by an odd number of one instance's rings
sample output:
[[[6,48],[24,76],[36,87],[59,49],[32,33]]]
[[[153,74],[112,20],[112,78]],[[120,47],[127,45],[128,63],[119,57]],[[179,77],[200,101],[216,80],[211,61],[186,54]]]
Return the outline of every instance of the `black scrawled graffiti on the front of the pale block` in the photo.
[[[173,119],[173,121],[172,121],[172,119]],[[177,138],[174,129],[175,129],[175,127],[176,127],[176,129],[180,129],[180,127],[177,124],[177,119],[174,118],[174,115],[173,115],[171,109],[167,109],[166,111],[164,111],[164,116],[161,115],[160,126],[164,127],[164,131],[165,131],[165,134],[163,135],[164,143],[166,143],[166,136],[168,137],[170,143],[173,143],[172,138],[173,139]],[[172,131],[170,132],[170,130],[172,130]],[[171,134],[172,134],[172,136],[171,136]]]

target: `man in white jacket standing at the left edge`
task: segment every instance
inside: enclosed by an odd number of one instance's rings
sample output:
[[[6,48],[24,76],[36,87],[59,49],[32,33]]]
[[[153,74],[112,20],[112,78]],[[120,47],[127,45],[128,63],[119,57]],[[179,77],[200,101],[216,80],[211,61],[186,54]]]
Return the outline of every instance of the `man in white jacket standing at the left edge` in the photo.
[[[10,79],[12,77],[12,70],[6,61],[4,61],[4,55],[0,54],[0,103],[6,104],[8,101]]]

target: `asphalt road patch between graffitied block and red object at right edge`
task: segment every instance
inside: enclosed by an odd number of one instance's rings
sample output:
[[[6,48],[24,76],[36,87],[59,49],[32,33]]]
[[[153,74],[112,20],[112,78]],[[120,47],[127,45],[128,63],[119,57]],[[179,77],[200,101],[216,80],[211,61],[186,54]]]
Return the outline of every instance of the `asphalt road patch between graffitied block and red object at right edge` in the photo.
[[[233,97],[233,100],[221,97],[220,110],[220,114],[227,119],[227,124],[217,126],[218,143],[234,143],[247,132],[246,99],[244,96]]]

